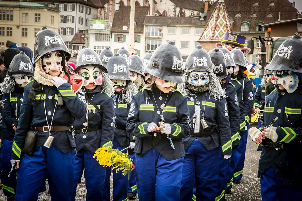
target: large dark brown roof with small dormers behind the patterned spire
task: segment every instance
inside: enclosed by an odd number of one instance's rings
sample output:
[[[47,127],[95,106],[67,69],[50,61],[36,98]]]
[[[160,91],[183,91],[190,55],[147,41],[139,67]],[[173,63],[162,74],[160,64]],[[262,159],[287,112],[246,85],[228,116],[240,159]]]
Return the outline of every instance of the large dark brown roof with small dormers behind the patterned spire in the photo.
[[[279,12],[281,12],[281,20],[291,20],[297,18],[297,9],[294,8],[288,0],[224,0],[226,10],[229,14],[230,20],[234,21],[233,32],[235,33],[252,33],[256,32],[258,22],[265,24],[276,22],[279,18]],[[216,8],[218,1],[209,8],[207,14],[212,14],[214,8]],[[259,5],[255,5],[258,3]],[[275,5],[270,5],[275,3]],[[240,17],[236,17],[236,14],[240,14]],[[257,17],[252,17],[256,14]],[[268,14],[272,14],[272,17],[268,17]],[[207,19],[211,15],[207,15]],[[249,31],[241,31],[241,23],[249,22]],[[259,33],[259,32],[258,32]]]

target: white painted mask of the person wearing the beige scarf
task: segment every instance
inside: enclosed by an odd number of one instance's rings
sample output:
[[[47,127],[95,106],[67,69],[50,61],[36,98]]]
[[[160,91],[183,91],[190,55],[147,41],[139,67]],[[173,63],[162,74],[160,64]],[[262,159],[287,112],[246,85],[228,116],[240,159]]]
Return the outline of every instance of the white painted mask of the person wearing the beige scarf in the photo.
[[[43,60],[42,60],[43,70],[46,73],[55,70],[64,72],[62,67],[62,59],[63,59],[63,55],[60,53],[60,51],[53,51],[53,52],[46,53],[43,56]]]

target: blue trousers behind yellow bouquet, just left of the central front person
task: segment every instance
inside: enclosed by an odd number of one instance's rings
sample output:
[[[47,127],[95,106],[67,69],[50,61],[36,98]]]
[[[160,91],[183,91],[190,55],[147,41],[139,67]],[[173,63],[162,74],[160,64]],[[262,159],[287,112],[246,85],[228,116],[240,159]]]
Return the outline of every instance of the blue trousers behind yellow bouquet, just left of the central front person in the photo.
[[[120,143],[117,142],[117,139],[114,137],[113,139],[113,149],[122,150],[126,147],[121,146]],[[123,152],[127,152],[127,149]],[[128,187],[129,180],[127,175],[123,175],[122,171],[116,172],[115,169],[112,171],[113,174],[113,191],[112,201],[125,201],[127,200],[128,195]],[[104,201],[110,201],[110,176],[111,176],[111,167],[106,167],[106,178],[103,190]]]

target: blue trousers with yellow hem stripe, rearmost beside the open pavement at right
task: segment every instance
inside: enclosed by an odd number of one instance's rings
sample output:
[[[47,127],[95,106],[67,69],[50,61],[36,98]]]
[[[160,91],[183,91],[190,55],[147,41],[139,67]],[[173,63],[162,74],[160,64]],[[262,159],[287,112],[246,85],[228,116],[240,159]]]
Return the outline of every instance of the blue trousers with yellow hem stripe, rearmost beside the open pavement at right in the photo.
[[[249,131],[249,124],[247,125],[247,129],[246,129],[244,135],[241,136],[240,143],[239,143],[239,146],[236,148],[235,155],[233,154],[233,156],[232,156],[235,158],[235,168],[234,168],[233,179],[241,180],[241,178],[242,178],[248,131]]]

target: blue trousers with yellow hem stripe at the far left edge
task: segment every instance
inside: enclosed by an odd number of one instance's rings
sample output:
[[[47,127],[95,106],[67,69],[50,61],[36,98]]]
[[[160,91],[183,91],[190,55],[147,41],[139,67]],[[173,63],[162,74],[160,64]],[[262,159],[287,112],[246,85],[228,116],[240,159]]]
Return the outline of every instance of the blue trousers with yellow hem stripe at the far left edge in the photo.
[[[13,140],[2,140],[2,153],[1,153],[1,182],[3,193],[6,197],[15,196],[17,187],[16,171],[11,173],[8,177],[9,171],[11,171],[11,148],[13,146]]]

